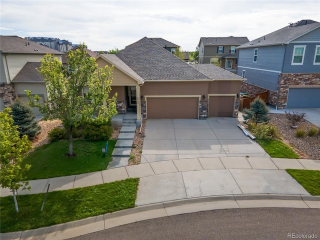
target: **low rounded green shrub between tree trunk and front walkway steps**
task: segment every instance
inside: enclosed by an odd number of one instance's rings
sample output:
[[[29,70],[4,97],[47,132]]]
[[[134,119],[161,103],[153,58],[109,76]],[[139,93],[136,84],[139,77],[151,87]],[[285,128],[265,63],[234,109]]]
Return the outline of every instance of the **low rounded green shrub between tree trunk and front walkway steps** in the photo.
[[[87,124],[84,126],[82,135],[87,140],[108,140],[113,132],[113,128],[108,125]]]

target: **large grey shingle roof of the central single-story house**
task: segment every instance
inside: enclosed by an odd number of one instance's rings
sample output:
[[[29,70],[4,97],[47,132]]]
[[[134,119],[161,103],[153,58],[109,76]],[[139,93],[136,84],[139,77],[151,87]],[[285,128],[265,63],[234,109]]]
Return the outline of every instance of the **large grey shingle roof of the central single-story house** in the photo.
[[[147,37],[126,46],[115,56],[103,56],[114,63],[118,61],[116,56],[123,62],[118,63],[118,66],[128,67],[143,80],[243,80],[242,77],[213,64],[188,64]]]

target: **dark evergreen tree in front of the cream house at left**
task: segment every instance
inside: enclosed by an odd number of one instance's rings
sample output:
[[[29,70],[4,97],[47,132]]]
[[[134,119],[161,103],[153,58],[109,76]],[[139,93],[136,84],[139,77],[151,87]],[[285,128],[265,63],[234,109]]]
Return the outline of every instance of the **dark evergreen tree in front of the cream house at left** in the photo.
[[[14,121],[13,125],[18,126],[17,130],[19,131],[20,136],[27,135],[28,139],[32,140],[40,133],[41,127],[37,120],[35,120],[35,114],[29,105],[24,104],[20,100],[16,100],[11,103],[10,108]]]

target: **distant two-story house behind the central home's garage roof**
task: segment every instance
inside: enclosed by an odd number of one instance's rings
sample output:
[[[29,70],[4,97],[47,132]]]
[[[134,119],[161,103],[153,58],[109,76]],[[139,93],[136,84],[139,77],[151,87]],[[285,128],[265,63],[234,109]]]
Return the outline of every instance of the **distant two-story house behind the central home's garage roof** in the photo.
[[[236,47],[248,42],[246,36],[201,37],[198,43],[198,63],[220,63],[222,68],[236,72]]]

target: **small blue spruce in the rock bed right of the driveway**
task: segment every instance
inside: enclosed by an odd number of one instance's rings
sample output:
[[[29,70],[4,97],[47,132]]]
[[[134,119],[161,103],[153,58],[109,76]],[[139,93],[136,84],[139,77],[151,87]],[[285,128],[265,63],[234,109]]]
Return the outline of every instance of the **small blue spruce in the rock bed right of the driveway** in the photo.
[[[260,122],[269,122],[269,117],[266,115],[269,109],[260,97],[256,97],[250,103],[250,109],[244,109],[246,115],[243,116],[244,122],[252,121],[255,125]]]

